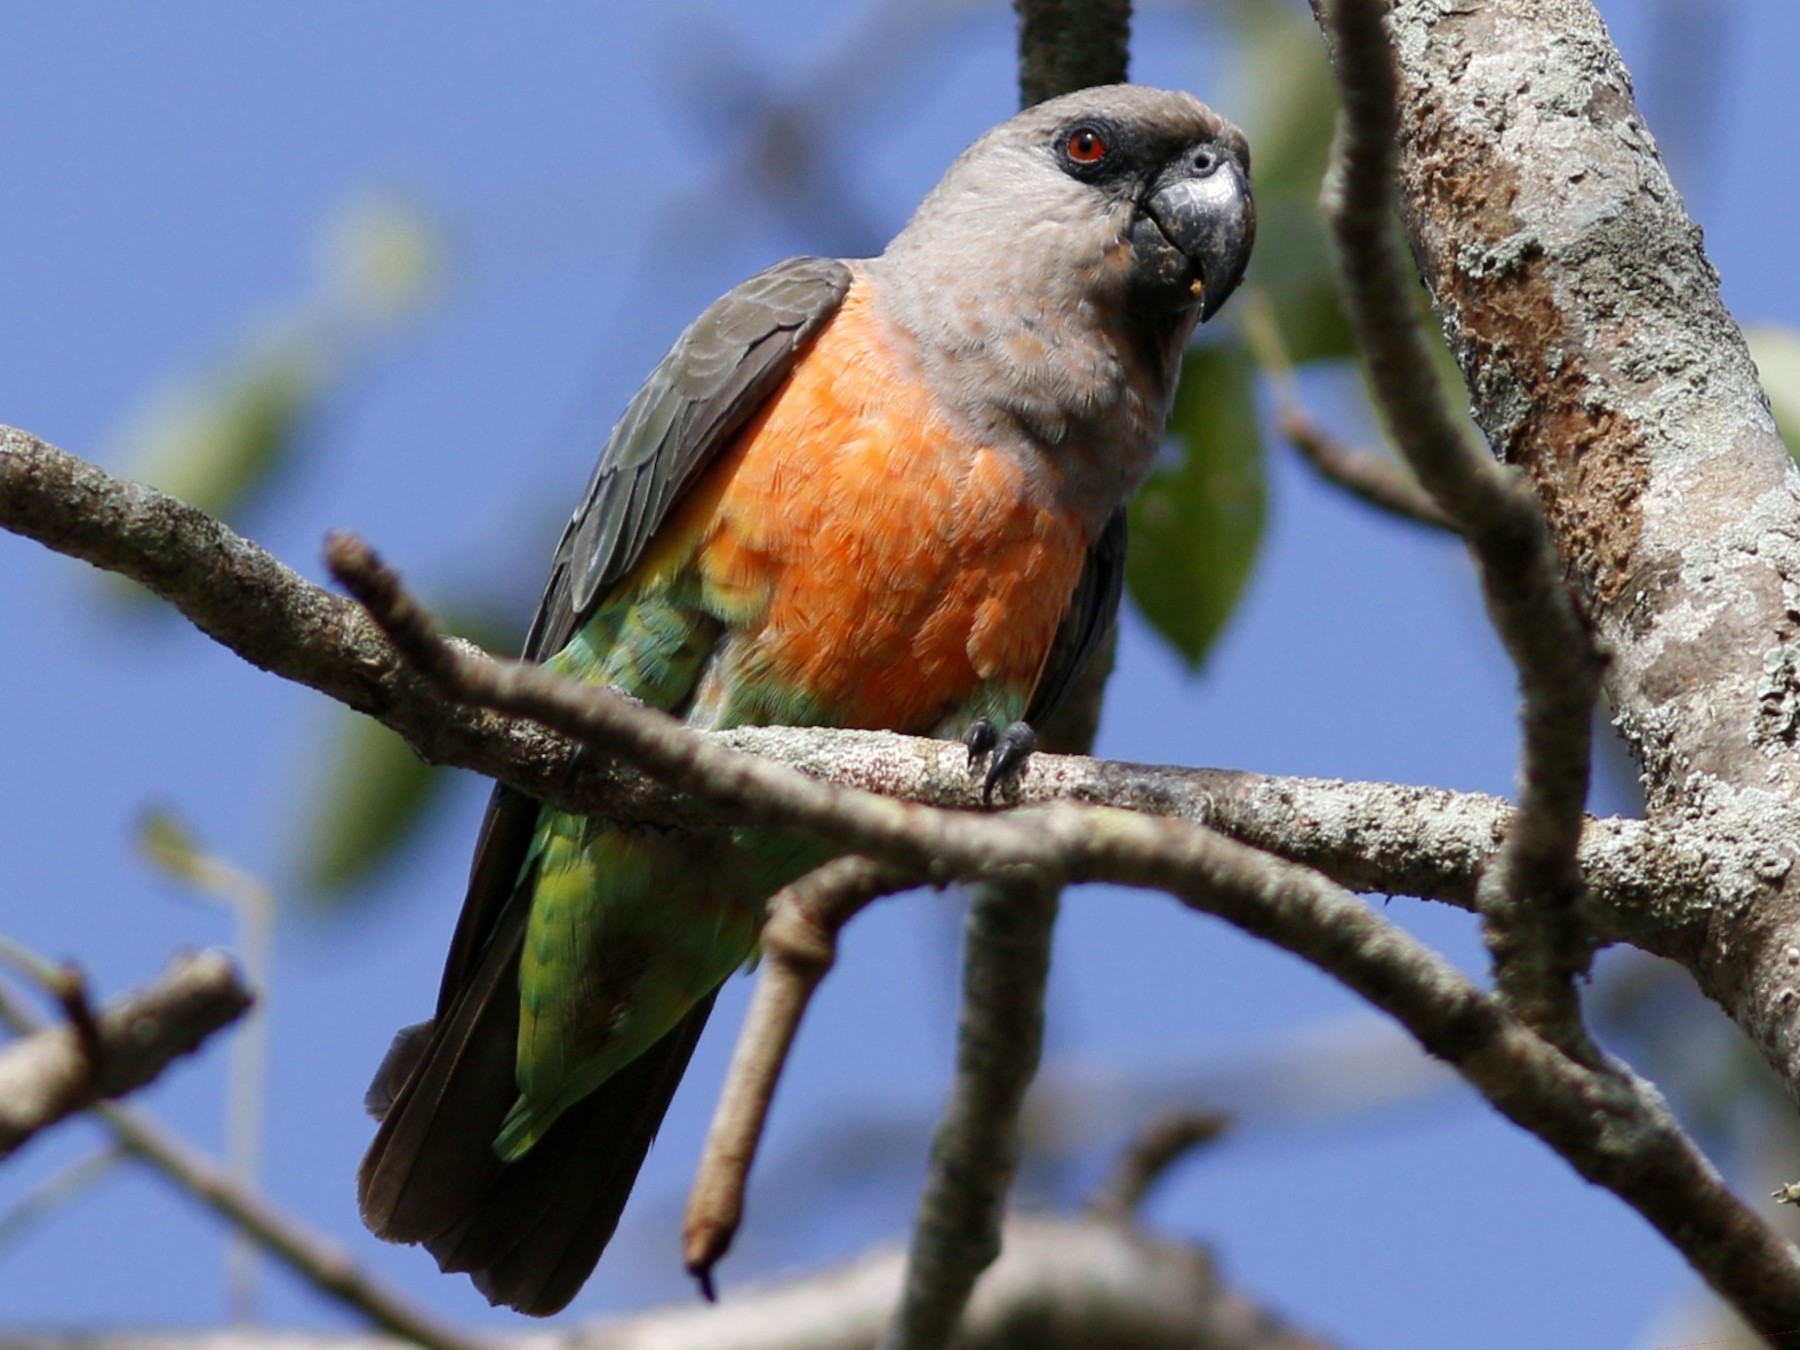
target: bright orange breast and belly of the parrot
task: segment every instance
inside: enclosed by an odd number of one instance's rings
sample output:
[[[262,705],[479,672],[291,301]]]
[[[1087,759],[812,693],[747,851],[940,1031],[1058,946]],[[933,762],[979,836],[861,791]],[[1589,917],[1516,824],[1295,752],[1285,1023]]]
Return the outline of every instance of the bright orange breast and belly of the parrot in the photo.
[[[691,720],[929,733],[1030,697],[1087,531],[1042,464],[952,427],[896,346],[853,288],[670,522],[727,632]]]

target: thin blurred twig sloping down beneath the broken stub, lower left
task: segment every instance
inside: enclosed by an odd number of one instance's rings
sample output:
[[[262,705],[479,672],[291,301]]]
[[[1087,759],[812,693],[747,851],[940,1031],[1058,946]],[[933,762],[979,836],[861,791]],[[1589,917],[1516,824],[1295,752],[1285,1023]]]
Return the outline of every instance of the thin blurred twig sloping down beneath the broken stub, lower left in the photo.
[[[187,958],[187,961],[198,963],[209,956],[223,961],[216,952],[203,952],[198,958]],[[108,1012],[106,1019],[110,1017]],[[103,1026],[106,1019],[103,1019]],[[0,1021],[29,1039],[45,1035],[38,1019],[25,1012],[23,1004],[7,994],[4,985],[0,985]],[[4,1098],[5,1093],[0,1091],[0,1100]],[[344,1251],[297,1219],[247,1193],[202,1154],[148,1116],[113,1102],[95,1103],[94,1114],[106,1123],[106,1129],[126,1150],[221,1215],[236,1231],[250,1235],[315,1289],[356,1309],[376,1327],[423,1345],[427,1350],[486,1350],[482,1341],[443,1327],[407,1305],[398,1294],[389,1292],[356,1269]]]

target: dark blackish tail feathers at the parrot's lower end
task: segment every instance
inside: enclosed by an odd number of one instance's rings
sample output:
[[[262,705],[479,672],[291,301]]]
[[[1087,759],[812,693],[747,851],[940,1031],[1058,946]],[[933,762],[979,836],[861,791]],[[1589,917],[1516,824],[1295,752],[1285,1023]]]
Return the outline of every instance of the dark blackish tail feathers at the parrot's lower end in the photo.
[[[518,1096],[522,914],[500,927],[446,1013],[428,1033],[401,1031],[376,1073],[371,1100],[391,1105],[358,1175],[362,1217],[376,1237],[423,1242],[445,1271],[470,1273],[491,1303],[547,1316],[612,1237],[713,995],[502,1165],[493,1139]]]

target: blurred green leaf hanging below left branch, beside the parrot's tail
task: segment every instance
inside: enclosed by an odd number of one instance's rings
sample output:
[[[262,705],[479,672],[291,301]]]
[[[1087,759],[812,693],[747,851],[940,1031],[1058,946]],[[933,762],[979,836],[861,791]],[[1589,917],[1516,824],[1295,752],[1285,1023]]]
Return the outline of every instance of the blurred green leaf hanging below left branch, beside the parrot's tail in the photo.
[[[448,774],[380,722],[335,711],[319,796],[302,814],[302,868],[313,895],[340,898],[394,857],[437,801]]]

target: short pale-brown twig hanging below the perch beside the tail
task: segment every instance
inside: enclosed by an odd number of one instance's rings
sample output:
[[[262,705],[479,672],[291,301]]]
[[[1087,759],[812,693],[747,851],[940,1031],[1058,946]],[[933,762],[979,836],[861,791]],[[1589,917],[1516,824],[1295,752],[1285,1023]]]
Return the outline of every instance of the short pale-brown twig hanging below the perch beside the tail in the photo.
[[[776,1084],[806,1004],[837,959],[837,934],[869,902],[913,882],[880,862],[848,857],[815,868],[769,902],[756,992],[725,1071],[682,1226],[682,1255],[709,1301],[713,1267],[743,1220],[743,1193]]]

